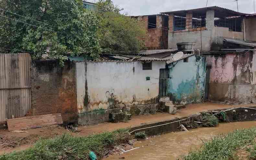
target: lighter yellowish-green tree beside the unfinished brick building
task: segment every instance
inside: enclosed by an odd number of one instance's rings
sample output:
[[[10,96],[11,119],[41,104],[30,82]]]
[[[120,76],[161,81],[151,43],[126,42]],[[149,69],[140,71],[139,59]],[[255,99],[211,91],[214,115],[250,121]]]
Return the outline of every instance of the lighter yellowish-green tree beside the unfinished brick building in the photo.
[[[146,35],[141,21],[120,14],[120,9],[111,0],[99,0],[97,16],[100,19],[99,44],[103,52],[139,51],[144,47]]]

